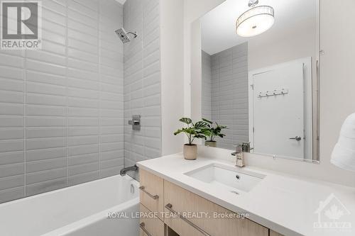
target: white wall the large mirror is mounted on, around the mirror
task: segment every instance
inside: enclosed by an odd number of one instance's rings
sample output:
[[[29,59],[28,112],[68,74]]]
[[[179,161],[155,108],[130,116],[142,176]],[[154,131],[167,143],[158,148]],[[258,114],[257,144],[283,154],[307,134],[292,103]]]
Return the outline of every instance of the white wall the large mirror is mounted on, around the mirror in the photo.
[[[203,13],[222,1],[185,0],[185,114],[191,109],[190,26]],[[337,9],[337,11],[334,11]],[[330,164],[330,155],[337,142],[341,125],[355,112],[355,1],[323,0],[320,4],[321,57],[320,81],[320,164],[248,154],[247,163],[278,172],[300,175],[347,186],[355,186],[355,174]]]

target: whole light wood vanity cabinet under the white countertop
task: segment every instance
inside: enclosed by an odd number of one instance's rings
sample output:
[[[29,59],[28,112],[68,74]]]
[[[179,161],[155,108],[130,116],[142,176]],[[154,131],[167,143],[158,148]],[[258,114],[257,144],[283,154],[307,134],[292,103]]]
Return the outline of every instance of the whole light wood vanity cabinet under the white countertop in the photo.
[[[269,236],[267,227],[143,169],[140,181],[141,212],[159,216],[141,218],[141,236]]]

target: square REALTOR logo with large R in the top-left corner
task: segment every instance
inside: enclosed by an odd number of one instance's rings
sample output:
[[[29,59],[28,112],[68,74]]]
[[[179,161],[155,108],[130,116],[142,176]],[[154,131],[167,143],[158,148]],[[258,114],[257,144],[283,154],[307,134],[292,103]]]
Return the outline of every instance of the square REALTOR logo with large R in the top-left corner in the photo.
[[[40,1],[1,1],[1,49],[40,49]]]

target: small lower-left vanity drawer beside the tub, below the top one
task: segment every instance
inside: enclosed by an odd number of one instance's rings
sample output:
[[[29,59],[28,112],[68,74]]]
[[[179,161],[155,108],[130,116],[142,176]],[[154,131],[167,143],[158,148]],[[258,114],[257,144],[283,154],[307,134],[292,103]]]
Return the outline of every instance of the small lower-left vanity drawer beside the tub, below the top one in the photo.
[[[140,236],[164,236],[164,223],[159,218],[153,218],[150,210],[141,204],[142,217],[139,220]],[[146,231],[145,231],[146,230]]]

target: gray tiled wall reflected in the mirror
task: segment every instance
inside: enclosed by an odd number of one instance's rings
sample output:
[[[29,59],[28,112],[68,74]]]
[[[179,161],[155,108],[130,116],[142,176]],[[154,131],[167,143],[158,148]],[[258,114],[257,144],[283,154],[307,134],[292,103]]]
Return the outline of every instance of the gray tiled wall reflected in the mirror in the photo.
[[[249,140],[248,43],[211,55],[210,60],[212,120],[228,126],[217,146],[233,150],[234,145]]]

